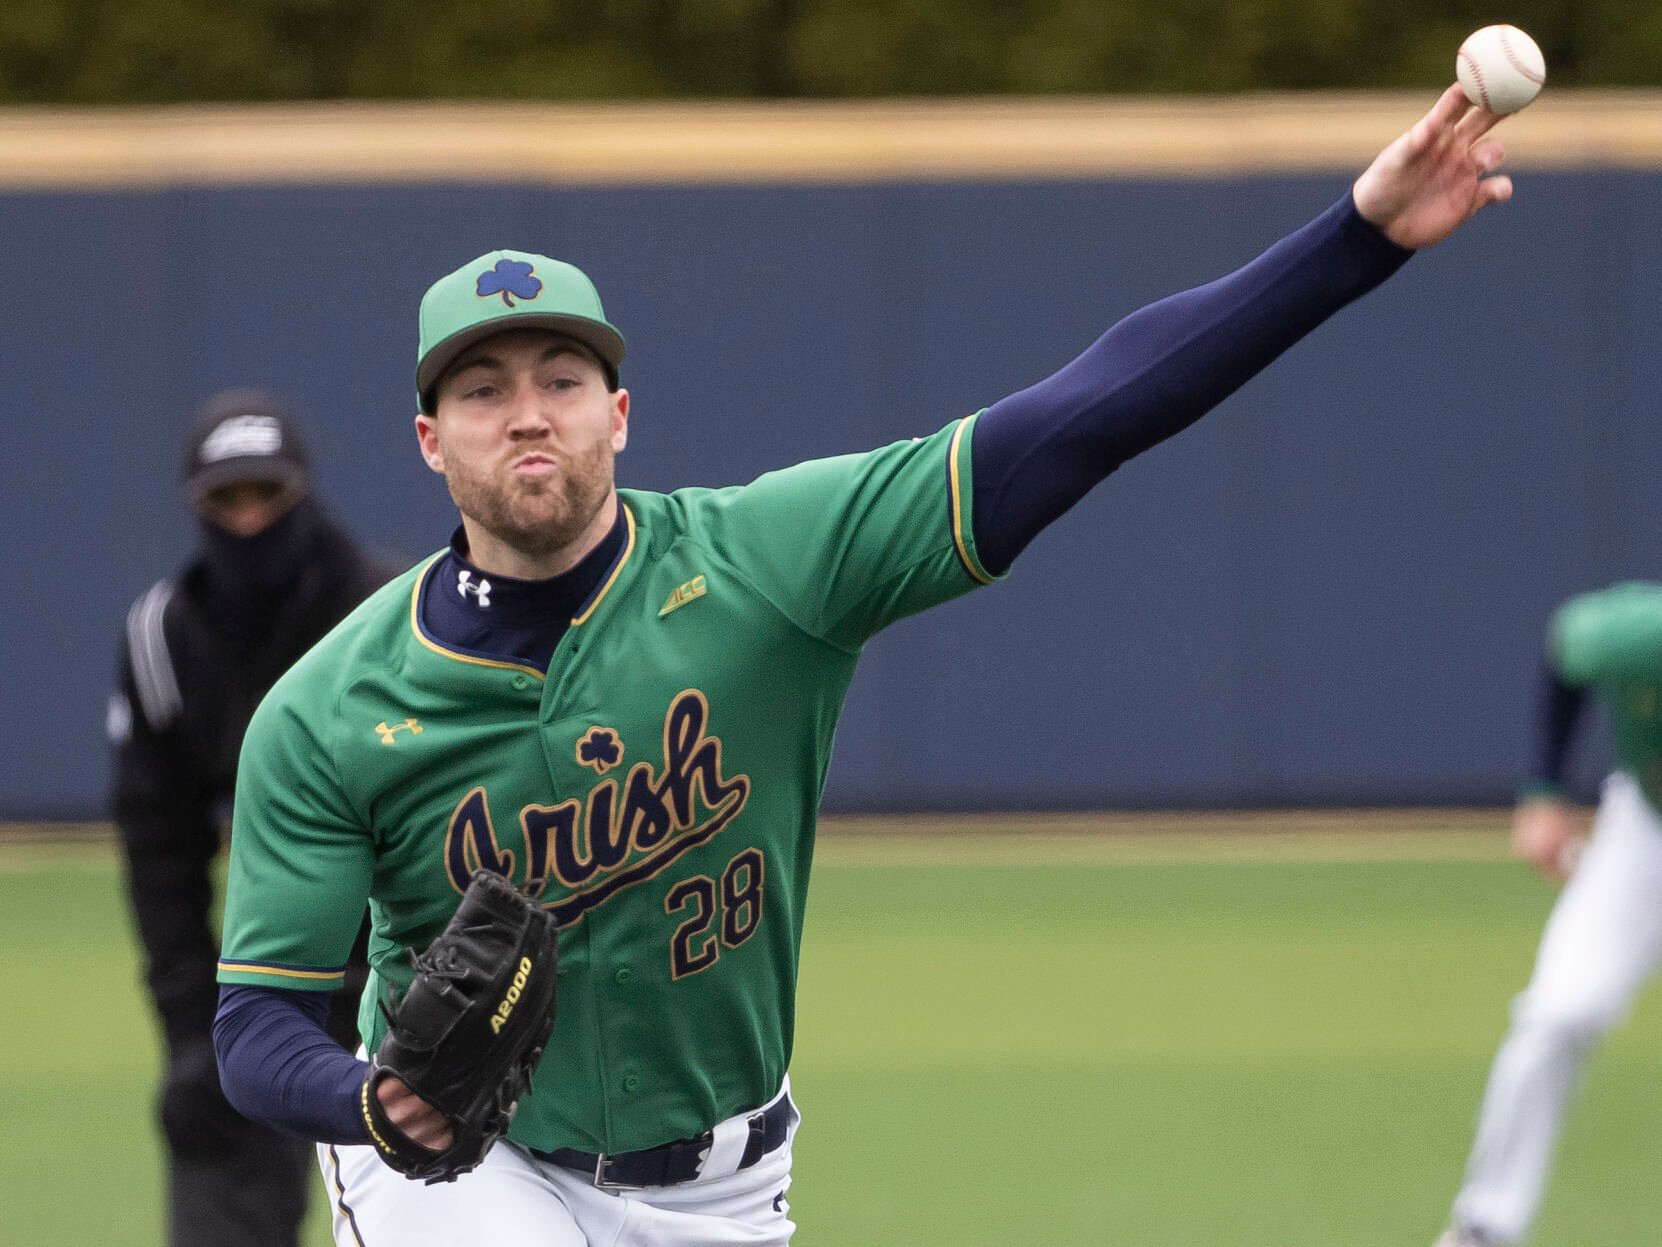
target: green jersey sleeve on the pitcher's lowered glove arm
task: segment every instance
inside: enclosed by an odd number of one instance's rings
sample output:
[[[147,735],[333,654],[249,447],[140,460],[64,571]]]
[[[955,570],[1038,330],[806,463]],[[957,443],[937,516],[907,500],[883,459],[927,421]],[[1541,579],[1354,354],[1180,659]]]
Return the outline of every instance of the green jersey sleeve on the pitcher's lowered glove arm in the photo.
[[[243,740],[221,983],[332,991],[362,923],[374,845],[322,738],[327,682],[309,668],[278,682]]]

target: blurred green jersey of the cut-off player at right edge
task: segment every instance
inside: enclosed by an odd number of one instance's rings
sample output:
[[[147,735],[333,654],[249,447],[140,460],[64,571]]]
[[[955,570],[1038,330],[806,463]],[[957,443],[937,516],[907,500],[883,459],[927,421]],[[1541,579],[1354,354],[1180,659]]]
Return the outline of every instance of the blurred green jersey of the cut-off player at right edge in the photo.
[[[1552,619],[1549,645],[1566,683],[1591,685],[1609,703],[1617,762],[1662,810],[1662,585],[1571,599]]]

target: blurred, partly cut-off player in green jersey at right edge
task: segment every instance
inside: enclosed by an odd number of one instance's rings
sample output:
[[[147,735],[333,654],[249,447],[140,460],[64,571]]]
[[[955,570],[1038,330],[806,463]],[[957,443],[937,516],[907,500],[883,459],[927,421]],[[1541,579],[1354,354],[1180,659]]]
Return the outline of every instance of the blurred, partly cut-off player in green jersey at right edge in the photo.
[[[1589,690],[1609,705],[1617,768],[1582,848],[1562,775]],[[1662,585],[1615,585],[1559,610],[1536,735],[1512,841],[1569,883],[1512,1004],[1439,1247],[1501,1247],[1529,1232],[1581,1067],[1662,963]]]

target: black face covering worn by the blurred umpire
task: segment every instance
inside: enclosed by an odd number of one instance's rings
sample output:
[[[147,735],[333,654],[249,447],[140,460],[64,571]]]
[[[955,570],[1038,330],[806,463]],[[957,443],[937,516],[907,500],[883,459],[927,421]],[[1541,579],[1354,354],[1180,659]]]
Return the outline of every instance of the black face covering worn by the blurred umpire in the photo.
[[[322,512],[302,497],[269,527],[238,537],[198,519],[206,609],[233,643],[259,640],[312,564]]]

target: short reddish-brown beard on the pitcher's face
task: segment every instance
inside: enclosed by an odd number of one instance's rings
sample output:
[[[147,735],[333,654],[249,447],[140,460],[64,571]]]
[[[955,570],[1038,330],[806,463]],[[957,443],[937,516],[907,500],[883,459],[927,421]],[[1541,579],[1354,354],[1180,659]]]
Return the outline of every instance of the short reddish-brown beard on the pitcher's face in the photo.
[[[560,459],[552,477],[507,479],[449,466],[444,482],[455,509],[519,554],[543,559],[588,529],[612,492],[612,447]]]

